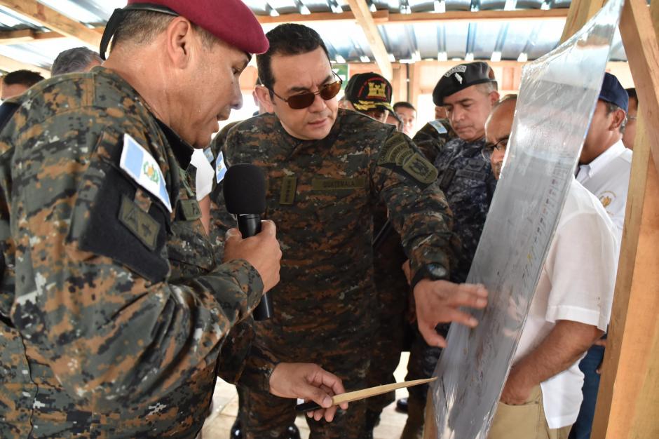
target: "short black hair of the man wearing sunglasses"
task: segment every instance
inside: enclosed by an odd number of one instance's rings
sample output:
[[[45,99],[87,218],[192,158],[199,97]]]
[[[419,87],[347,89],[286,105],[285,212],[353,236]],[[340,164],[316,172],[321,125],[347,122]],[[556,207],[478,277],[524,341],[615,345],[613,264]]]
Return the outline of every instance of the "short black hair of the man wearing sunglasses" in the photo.
[[[330,53],[327,52],[325,43],[318,32],[304,25],[286,23],[279,25],[266,34],[270,42],[270,48],[263,55],[257,55],[257,68],[259,69],[259,79],[261,83],[271,90],[275,85],[275,78],[272,74],[271,60],[273,55],[301,55],[303,53],[313,52],[321,47],[322,51],[330,60]]]

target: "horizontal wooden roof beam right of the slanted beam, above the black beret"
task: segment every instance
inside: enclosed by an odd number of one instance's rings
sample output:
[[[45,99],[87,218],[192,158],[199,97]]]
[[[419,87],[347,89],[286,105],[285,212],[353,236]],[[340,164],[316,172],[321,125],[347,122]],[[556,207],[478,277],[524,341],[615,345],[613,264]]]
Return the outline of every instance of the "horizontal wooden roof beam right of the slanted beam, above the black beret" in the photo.
[[[413,25],[435,22],[482,22],[492,20],[562,20],[568,16],[566,8],[524,9],[519,11],[448,11],[444,13],[422,12],[413,14],[389,14],[383,25]]]

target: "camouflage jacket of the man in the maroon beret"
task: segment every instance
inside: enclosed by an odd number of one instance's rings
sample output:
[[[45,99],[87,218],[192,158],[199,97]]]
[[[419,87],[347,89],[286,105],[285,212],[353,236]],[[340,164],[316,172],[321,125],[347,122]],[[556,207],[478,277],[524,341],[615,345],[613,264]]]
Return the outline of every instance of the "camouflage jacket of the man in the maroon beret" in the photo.
[[[0,436],[194,438],[263,285],[216,264],[191,147],[97,67],[29,90],[0,154]]]

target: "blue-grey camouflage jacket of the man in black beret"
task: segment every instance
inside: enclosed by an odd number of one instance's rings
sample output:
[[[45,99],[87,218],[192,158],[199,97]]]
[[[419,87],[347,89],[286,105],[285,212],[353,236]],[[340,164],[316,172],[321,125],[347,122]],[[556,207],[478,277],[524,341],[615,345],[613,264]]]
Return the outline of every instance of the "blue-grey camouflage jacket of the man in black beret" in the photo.
[[[485,224],[496,180],[481,151],[485,140],[449,140],[435,157],[437,182],[453,212],[454,230],[461,242],[451,281],[466,281]]]

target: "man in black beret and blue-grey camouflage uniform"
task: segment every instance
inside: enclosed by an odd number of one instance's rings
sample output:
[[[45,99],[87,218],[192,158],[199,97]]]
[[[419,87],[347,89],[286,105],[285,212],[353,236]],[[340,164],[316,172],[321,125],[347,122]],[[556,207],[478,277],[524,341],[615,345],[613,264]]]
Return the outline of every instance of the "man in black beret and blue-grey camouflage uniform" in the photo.
[[[446,194],[454,216],[454,231],[461,242],[451,282],[465,282],[476,252],[496,180],[489,161],[482,156],[485,121],[498,100],[494,73],[485,62],[472,62],[449,69],[433,90],[433,102],[447,110],[457,137],[424,148],[439,171],[437,182]],[[428,144],[427,144],[428,145]],[[434,156],[433,156],[434,154]],[[448,332],[448,325],[437,328]],[[427,346],[416,337],[410,350],[406,379],[428,378],[433,374],[441,349]],[[409,389],[407,424],[402,439],[423,436],[423,413],[428,386]]]

